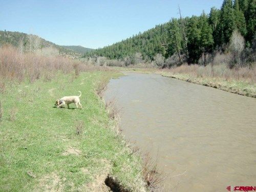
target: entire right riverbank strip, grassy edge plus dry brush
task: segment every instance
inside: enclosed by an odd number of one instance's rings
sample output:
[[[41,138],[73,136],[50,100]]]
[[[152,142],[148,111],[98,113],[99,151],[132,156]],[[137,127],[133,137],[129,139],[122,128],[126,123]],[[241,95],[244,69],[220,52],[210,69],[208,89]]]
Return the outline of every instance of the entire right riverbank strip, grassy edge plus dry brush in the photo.
[[[115,68],[118,69],[118,68]],[[134,73],[157,73],[164,77],[172,77],[223,91],[256,97],[256,70],[241,68],[230,70],[223,65],[207,67],[192,65],[172,69],[156,68],[119,68],[120,71]]]

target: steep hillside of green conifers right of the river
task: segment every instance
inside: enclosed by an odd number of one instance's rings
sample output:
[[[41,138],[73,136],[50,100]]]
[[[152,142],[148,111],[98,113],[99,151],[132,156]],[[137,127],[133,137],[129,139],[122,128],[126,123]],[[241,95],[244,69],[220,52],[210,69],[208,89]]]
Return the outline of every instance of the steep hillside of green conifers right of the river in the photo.
[[[214,51],[224,51],[232,32],[245,39],[246,54],[255,51],[256,0],[224,0],[221,9],[211,8],[200,16],[172,18],[168,23],[139,33],[84,56],[126,59],[137,54],[143,59],[177,57],[180,62],[198,62]],[[254,46],[254,47],[253,47]]]

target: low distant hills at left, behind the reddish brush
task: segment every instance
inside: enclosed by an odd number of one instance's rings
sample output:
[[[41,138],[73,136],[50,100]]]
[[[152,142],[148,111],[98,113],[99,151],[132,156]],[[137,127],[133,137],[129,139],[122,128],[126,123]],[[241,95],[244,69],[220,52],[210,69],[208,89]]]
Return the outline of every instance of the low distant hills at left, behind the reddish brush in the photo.
[[[80,57],[81,54],[92,50],[82,46],[59,46],[37,35],[0,30],[0,46],[5,44],[20,48],[23,47],[24,51],[53,47],[57,49],[61,55],[73,58]]]

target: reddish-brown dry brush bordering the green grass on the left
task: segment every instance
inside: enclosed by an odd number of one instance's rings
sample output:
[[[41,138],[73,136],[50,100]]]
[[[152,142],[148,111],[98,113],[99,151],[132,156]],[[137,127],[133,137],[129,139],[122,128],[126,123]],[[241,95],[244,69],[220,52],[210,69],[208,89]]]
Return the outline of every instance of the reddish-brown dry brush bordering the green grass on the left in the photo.
[[[0,47],[0,91],[5,90],[3,79],[22,82],[28,79],[30,82],[41,77],[45,81],[51,81],[58,71],[62,73],[74,73],[76,76],[83,71],[108,71],[107,67],[88,65],[86,61],[78,61],[59,55],[45,56],[35,53],[20,53],[12,46]]]

